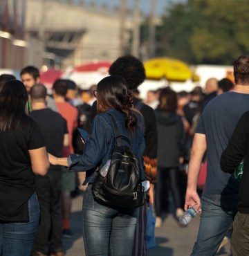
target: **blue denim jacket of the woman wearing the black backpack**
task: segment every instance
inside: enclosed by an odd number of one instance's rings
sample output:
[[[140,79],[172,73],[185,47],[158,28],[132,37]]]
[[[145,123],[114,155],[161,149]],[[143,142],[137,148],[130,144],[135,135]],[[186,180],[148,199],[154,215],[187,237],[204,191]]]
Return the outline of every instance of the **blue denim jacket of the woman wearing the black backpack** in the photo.
[[[144,135],[138,127],[136,127],[133,134],[129,134],[125,127],[124,115],[116,109],[108,109],[95,116],[91,126],[91,134],[84,145],[83,154],[80,156],[71,154],[68,157],[68,170],[70,172],[86,172],[84,184],[87,182],[93,183],[96,168],[101,168],[111,158],[116,134],[107,113],[111,113],[116,120],[120,135],[127,136],[130,139],[133,154],[140,163],[140,179],[141,181],[145,180],[142,157],[145,151]],[[122,142],[124,145],[128,145],[126,140],[122,140]]]

